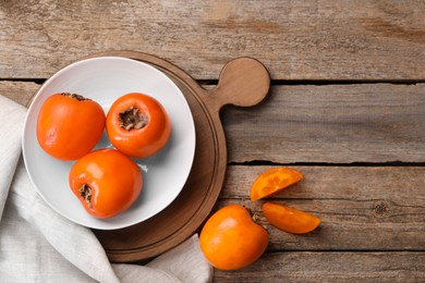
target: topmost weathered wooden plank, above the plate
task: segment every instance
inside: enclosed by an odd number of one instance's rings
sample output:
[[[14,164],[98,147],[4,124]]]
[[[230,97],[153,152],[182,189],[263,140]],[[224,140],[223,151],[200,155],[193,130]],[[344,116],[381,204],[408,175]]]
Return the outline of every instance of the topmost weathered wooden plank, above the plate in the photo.
[[[241,56],[274,79],[425,79],[424,11],[422,0],[1,1],[0,78],[135,50],[204,79]]]

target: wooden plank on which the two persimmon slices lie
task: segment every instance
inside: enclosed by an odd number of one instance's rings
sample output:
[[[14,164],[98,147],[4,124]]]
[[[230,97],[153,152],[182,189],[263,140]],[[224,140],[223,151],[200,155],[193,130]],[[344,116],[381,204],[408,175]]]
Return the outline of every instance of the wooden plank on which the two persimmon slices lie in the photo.
[[[219,207],[240,204],[257,214],[276,250],[425,250],[424,167],[291,167],[304,179],[266,200],[319,217],[320,226],[293,235],[271,226],[251,185],[271,167],[230,165]]]

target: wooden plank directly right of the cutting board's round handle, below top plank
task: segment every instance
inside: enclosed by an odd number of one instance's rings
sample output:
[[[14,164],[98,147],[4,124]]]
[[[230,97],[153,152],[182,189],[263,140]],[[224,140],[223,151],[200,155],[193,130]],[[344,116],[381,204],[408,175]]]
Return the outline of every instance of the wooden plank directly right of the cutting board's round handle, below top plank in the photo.
[[[425,84],[283,85],[222,112],[229,161],[424,162]]]

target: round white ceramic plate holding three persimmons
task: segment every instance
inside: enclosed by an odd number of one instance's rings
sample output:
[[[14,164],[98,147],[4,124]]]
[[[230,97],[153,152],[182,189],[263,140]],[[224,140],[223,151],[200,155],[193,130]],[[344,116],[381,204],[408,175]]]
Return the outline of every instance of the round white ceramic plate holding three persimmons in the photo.
[[[135,160],[143,171],[144,186],[138,199],[125,212],[110,219],[89,216],[69,187],[73,162],[47,155],[36,137],[42,102],[56,93],[76,93],[102,106],[105,113],[120,96],[144,93],[155,97],[168,111],[172,131],[168,144],[155,156]],[[96,148],[112,147],[106,133]],[[195,153],[195,126],[187,102],[162,72],[143,62],[101,57],[73,63],[51,76],[37,91],[26,116],[23,156],[29,177],[41,197],[60,214],[84,226],[113,230],[136,224],[165,209],[186,182]]]

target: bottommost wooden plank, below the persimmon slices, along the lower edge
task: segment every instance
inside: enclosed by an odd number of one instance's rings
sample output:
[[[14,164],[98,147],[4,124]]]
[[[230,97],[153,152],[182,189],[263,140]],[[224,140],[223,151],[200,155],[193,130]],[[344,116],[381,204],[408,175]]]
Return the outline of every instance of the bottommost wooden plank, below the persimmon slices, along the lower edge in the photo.
[[[425,253],[274,253],[214,282],[423,282]]]

